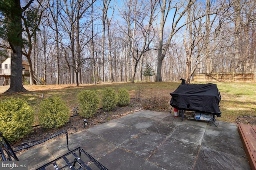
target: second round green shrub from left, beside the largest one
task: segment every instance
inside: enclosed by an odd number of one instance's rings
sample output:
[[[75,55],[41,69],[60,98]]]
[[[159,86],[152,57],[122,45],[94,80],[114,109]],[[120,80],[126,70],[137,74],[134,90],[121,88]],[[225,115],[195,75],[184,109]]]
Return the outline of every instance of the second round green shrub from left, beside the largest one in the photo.
[[[40,102],[38,121],[44,128],[58,128],[69,119],[69,110],[60,97],[45,98]]]

